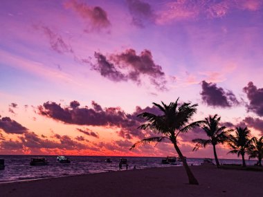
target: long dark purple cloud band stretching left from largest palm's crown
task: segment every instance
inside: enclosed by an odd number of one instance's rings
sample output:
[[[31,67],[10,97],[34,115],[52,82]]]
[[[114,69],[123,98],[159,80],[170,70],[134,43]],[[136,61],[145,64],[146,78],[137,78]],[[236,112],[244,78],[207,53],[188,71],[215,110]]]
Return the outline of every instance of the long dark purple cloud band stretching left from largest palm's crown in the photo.
[[[142,120],[136,115],[142,112],[160,113],[156,107],[146,107],[141,109],[136,107],[134,113],[125,113],[120,107],[104,108],[92,102],[92,108],[66,106],[62,108],[60,104],[55,102],[45,102],[42,106],[38,106],[39,114],[48,118],[64,122],[66,124],[78,124],[87,126],[110,126],[116,128],[116,132],[123,138],[131,139],[133,137],[143,138],[146,134],[152,135],[151,131],[140,131],[138,126],[142,123]],[[97,133],[90,131],[89,129],[78,129],[78,131],[98,137]]]

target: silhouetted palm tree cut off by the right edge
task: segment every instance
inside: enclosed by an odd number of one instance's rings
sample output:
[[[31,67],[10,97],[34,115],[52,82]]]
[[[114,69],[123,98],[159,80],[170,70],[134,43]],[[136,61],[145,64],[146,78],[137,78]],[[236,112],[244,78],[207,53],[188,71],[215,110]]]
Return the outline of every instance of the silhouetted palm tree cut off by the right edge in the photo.
[[[257,164],[262,166],[261,160],[263,156],[263,136],[259,140],[257,140],[255,137],[251,139],[251,147],[248,149],[248,155],[248,159],[257,158]]]

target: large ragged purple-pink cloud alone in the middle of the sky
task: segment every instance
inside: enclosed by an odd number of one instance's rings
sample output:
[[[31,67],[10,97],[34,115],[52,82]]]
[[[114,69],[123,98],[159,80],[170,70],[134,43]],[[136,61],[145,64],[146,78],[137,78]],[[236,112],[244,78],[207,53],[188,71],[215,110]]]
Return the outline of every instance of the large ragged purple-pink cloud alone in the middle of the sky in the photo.
[[[136,55],[136,51],[129,48],[123,53],[110,54],[107,57],[101,53],[95,53],[94,57],[97,62],[90,63],[92,69],[114,82],[129,79],[136,84],[141,84],[142,78],[147,76],[149,82],[158,90],[167,90],[165,73],[161,66],[154,63],[150,50],[145,49]]]

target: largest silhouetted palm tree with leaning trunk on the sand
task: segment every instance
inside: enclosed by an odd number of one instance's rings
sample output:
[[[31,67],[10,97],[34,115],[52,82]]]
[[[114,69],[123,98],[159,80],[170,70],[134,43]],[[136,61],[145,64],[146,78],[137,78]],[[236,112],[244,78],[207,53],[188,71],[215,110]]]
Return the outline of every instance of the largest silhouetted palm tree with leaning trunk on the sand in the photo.
[[[137,115],[140,118],[145,120],[145,124],[142,124],[138,129],[149,129],[156,134],[162,134],[158,137],[146,138],[136,142],[131,149],[134,149],[140,144],[149,144],[151,142],[161,142],[164,139],[168,139],[174,145],[174,149],[178,153],[180,159],[183,161],[183,167],[188,175],[189,184],[199,185],[199,182],[194,177],[192,171],[188,167],[188,164],[183,157],[183,153],[178,147],[176,138],[179,133],[187,133],[191,129],[194,129],[196,126],[199,126],[203,121],[192,122],[189,124],[190,119],[197,112],[197,104],[183,103],[181,106],[178,106],[179,98],[176,102],[170,102],[169,105],[153,103],[160,111],[161,115],[155,115],[153,113],[140,113]]]

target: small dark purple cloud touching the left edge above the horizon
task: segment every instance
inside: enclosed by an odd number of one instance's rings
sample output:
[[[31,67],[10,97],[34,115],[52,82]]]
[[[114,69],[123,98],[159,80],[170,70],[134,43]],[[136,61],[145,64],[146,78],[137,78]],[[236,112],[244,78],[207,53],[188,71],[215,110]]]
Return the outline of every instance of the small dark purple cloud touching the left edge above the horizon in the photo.
[[[22,134],[26,133],[28,129],[22,126],[15,120],[11,120],[9,117],[0,118],[0,129],[3,129],[6,133]]]

